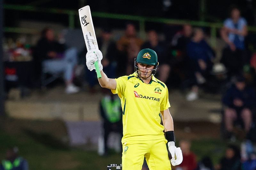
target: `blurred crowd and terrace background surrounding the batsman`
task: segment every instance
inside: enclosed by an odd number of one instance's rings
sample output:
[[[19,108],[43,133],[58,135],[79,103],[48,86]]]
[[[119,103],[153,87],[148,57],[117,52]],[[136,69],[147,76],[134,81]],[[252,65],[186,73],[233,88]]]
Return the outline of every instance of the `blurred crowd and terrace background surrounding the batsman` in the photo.
[[[156,51],[184,157],[173,169],[256,169],[253,0],[0,1],[0,169],[121,164],[120,101],[85,65],[85,5],[109,78]]]

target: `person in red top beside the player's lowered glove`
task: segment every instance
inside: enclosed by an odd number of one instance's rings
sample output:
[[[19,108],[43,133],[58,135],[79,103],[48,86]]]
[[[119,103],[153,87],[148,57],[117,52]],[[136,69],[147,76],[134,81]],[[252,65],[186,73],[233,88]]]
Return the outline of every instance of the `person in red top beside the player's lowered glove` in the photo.
[[[180,148],[183,154],[182,163],[176,168],[177,170],[194,170],[196,169],[196,155],[190,151],[191,143],[188,140],[180,141]]]

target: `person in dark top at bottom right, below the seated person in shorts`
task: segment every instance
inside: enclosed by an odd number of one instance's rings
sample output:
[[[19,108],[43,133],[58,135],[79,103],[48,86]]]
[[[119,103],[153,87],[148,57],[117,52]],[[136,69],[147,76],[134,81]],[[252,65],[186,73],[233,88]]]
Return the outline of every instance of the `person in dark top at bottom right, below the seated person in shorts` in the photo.
[[[241,170],[239,149],[234,145],[229,145],[226,149],[225,156],[220,159],[216,170]]]

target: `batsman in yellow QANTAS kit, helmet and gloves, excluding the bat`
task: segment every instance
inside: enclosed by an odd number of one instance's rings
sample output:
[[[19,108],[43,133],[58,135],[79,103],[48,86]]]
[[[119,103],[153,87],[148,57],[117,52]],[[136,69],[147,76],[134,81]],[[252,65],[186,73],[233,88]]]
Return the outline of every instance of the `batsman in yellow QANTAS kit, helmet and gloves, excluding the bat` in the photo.
[[[158,69],[157,55],[152,49],[142,49],[135,62],[135,72],[111,79],[103,72],[100,50],[87,52],[86,65],[94,70],[98,61],[102,78],[100,86],[108,88],[121,99],[123,109],[123,170],[141,170],[144,157],[150,170],[171,170],[182,160],[175,146],[173,120],[166,85],[154,77]],[[161,125],[161,118],[163,125]],[[164,132],[165,131],[165,137]],[[171,164],[168,149],[172,155]]]

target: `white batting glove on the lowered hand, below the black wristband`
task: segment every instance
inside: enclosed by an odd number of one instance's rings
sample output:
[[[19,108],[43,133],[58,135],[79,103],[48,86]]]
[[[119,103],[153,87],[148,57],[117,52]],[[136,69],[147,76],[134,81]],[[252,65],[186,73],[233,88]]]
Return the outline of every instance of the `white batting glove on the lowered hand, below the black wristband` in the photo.
[[[168,142],[168,149],[172,155],[171,164],[172,166],[180,165],[183,156],[180,147],[176,147],[174,142]]]

